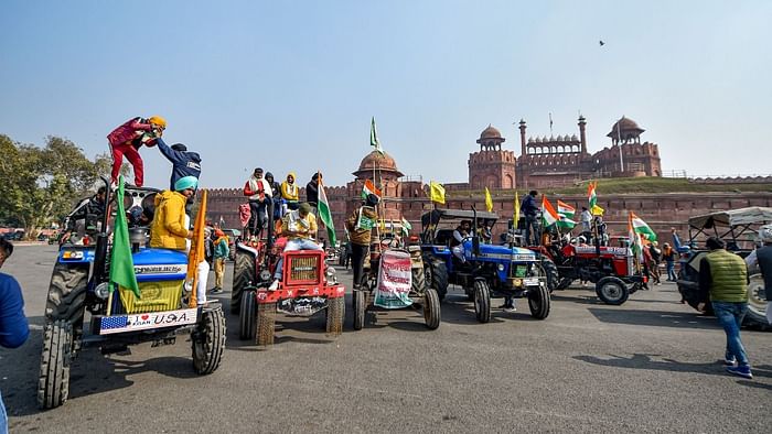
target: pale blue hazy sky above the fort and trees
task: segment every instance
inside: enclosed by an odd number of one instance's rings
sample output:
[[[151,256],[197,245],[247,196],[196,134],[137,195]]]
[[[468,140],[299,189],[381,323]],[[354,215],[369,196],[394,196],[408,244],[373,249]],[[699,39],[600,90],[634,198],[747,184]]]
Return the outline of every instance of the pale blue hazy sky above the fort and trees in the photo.
[[[577,133],[622,115],[665,172],[772,173],[772,1],[0,2],[0,133],[62,135],[89,156],[133,116],[203,158],[202,184],[262,166],[303,184],[352,178],[384,149],[407,175],[467,181],[492,123]],[[604,46],[598,41],[603,40]],[[170,165],[142,149],[146,184]]]

